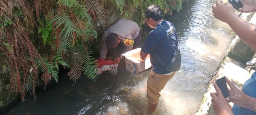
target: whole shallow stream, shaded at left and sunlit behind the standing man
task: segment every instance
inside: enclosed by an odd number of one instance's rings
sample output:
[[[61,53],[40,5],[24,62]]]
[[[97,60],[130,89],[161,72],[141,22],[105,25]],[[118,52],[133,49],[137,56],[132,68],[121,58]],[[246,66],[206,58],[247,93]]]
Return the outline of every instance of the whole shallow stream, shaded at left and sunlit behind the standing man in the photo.
[[[232,30],[212,16],[215,0],[189,0],[166,20],[178,32],[182,67],[161,91],[157,115],[193,115],[208,81],[228,51]],[[150,29],[146,29],[147,33]],[[143,36],[142,36],[143,37]],[[103,73],[95,81],[82,76],[74,84],[60,73],[58,85],[37,91],[4,115],[146,115],[146,81],[150,70],[135,77],[126,70]]]

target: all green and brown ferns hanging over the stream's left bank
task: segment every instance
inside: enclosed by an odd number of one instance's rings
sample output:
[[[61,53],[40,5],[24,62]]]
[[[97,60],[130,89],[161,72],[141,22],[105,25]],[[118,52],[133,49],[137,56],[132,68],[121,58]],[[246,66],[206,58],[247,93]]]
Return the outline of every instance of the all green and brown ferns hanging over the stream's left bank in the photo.
[[[98,36],[96,22],[103,27],[110,26],[107,17],[115,12],[119,18],[134,20],[141,25],[148,5],[158,4],[166,13],[179,11],[183,2],[0,0],[0,54],[6,57],[12,91],[22,94],[23,101],[27,92],[36,99],[38,79],[44,80],[45,87],[49,79],[58,83],[59,64],[70,68],[68,75],[74,81],[81,74],[95,80],[98,77],[96,59],[88,49]]]

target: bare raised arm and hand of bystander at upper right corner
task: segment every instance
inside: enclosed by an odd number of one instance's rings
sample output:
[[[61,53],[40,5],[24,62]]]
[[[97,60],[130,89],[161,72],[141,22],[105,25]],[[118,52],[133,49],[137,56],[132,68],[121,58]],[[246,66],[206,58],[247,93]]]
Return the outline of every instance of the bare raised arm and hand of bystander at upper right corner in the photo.
[[[222,3],[221,0],[212,5],[212,13],[215,18],[226,22],[248,46],[256,51],[256,25],[242,20],[236,15],[230,3]]]

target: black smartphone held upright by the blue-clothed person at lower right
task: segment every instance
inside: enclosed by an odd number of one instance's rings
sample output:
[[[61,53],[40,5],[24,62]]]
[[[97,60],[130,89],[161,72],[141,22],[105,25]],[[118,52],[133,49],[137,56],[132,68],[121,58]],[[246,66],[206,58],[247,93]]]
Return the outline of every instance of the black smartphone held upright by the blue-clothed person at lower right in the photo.
[[[217,83],[218,87],[220,88],[220,90],[221,90],[223,96],[224,96],[225,98],[228,97],[228,96],[229,96],[229,94],[228,94],[228,87],[227,87],[227,83],[226,83],[225,77],[222,77],[222,78],[220,78],[220,79],[217,79],[217,80],[216,80],[216,83]]]

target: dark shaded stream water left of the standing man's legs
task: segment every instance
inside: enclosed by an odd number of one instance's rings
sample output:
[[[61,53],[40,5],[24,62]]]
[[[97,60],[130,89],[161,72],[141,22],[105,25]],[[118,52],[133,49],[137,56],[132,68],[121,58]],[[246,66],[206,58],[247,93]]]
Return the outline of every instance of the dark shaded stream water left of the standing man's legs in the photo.
[[[81,76],[76,84],[60,72],[57,85],[26,96],[2,115],[146,115],[146,79],[149,70],[134,77],[126,70],[103,73],[96,82]],[[137,85],[135,85],[137,84]],[[141,85],[140,85],[141,84]]]

